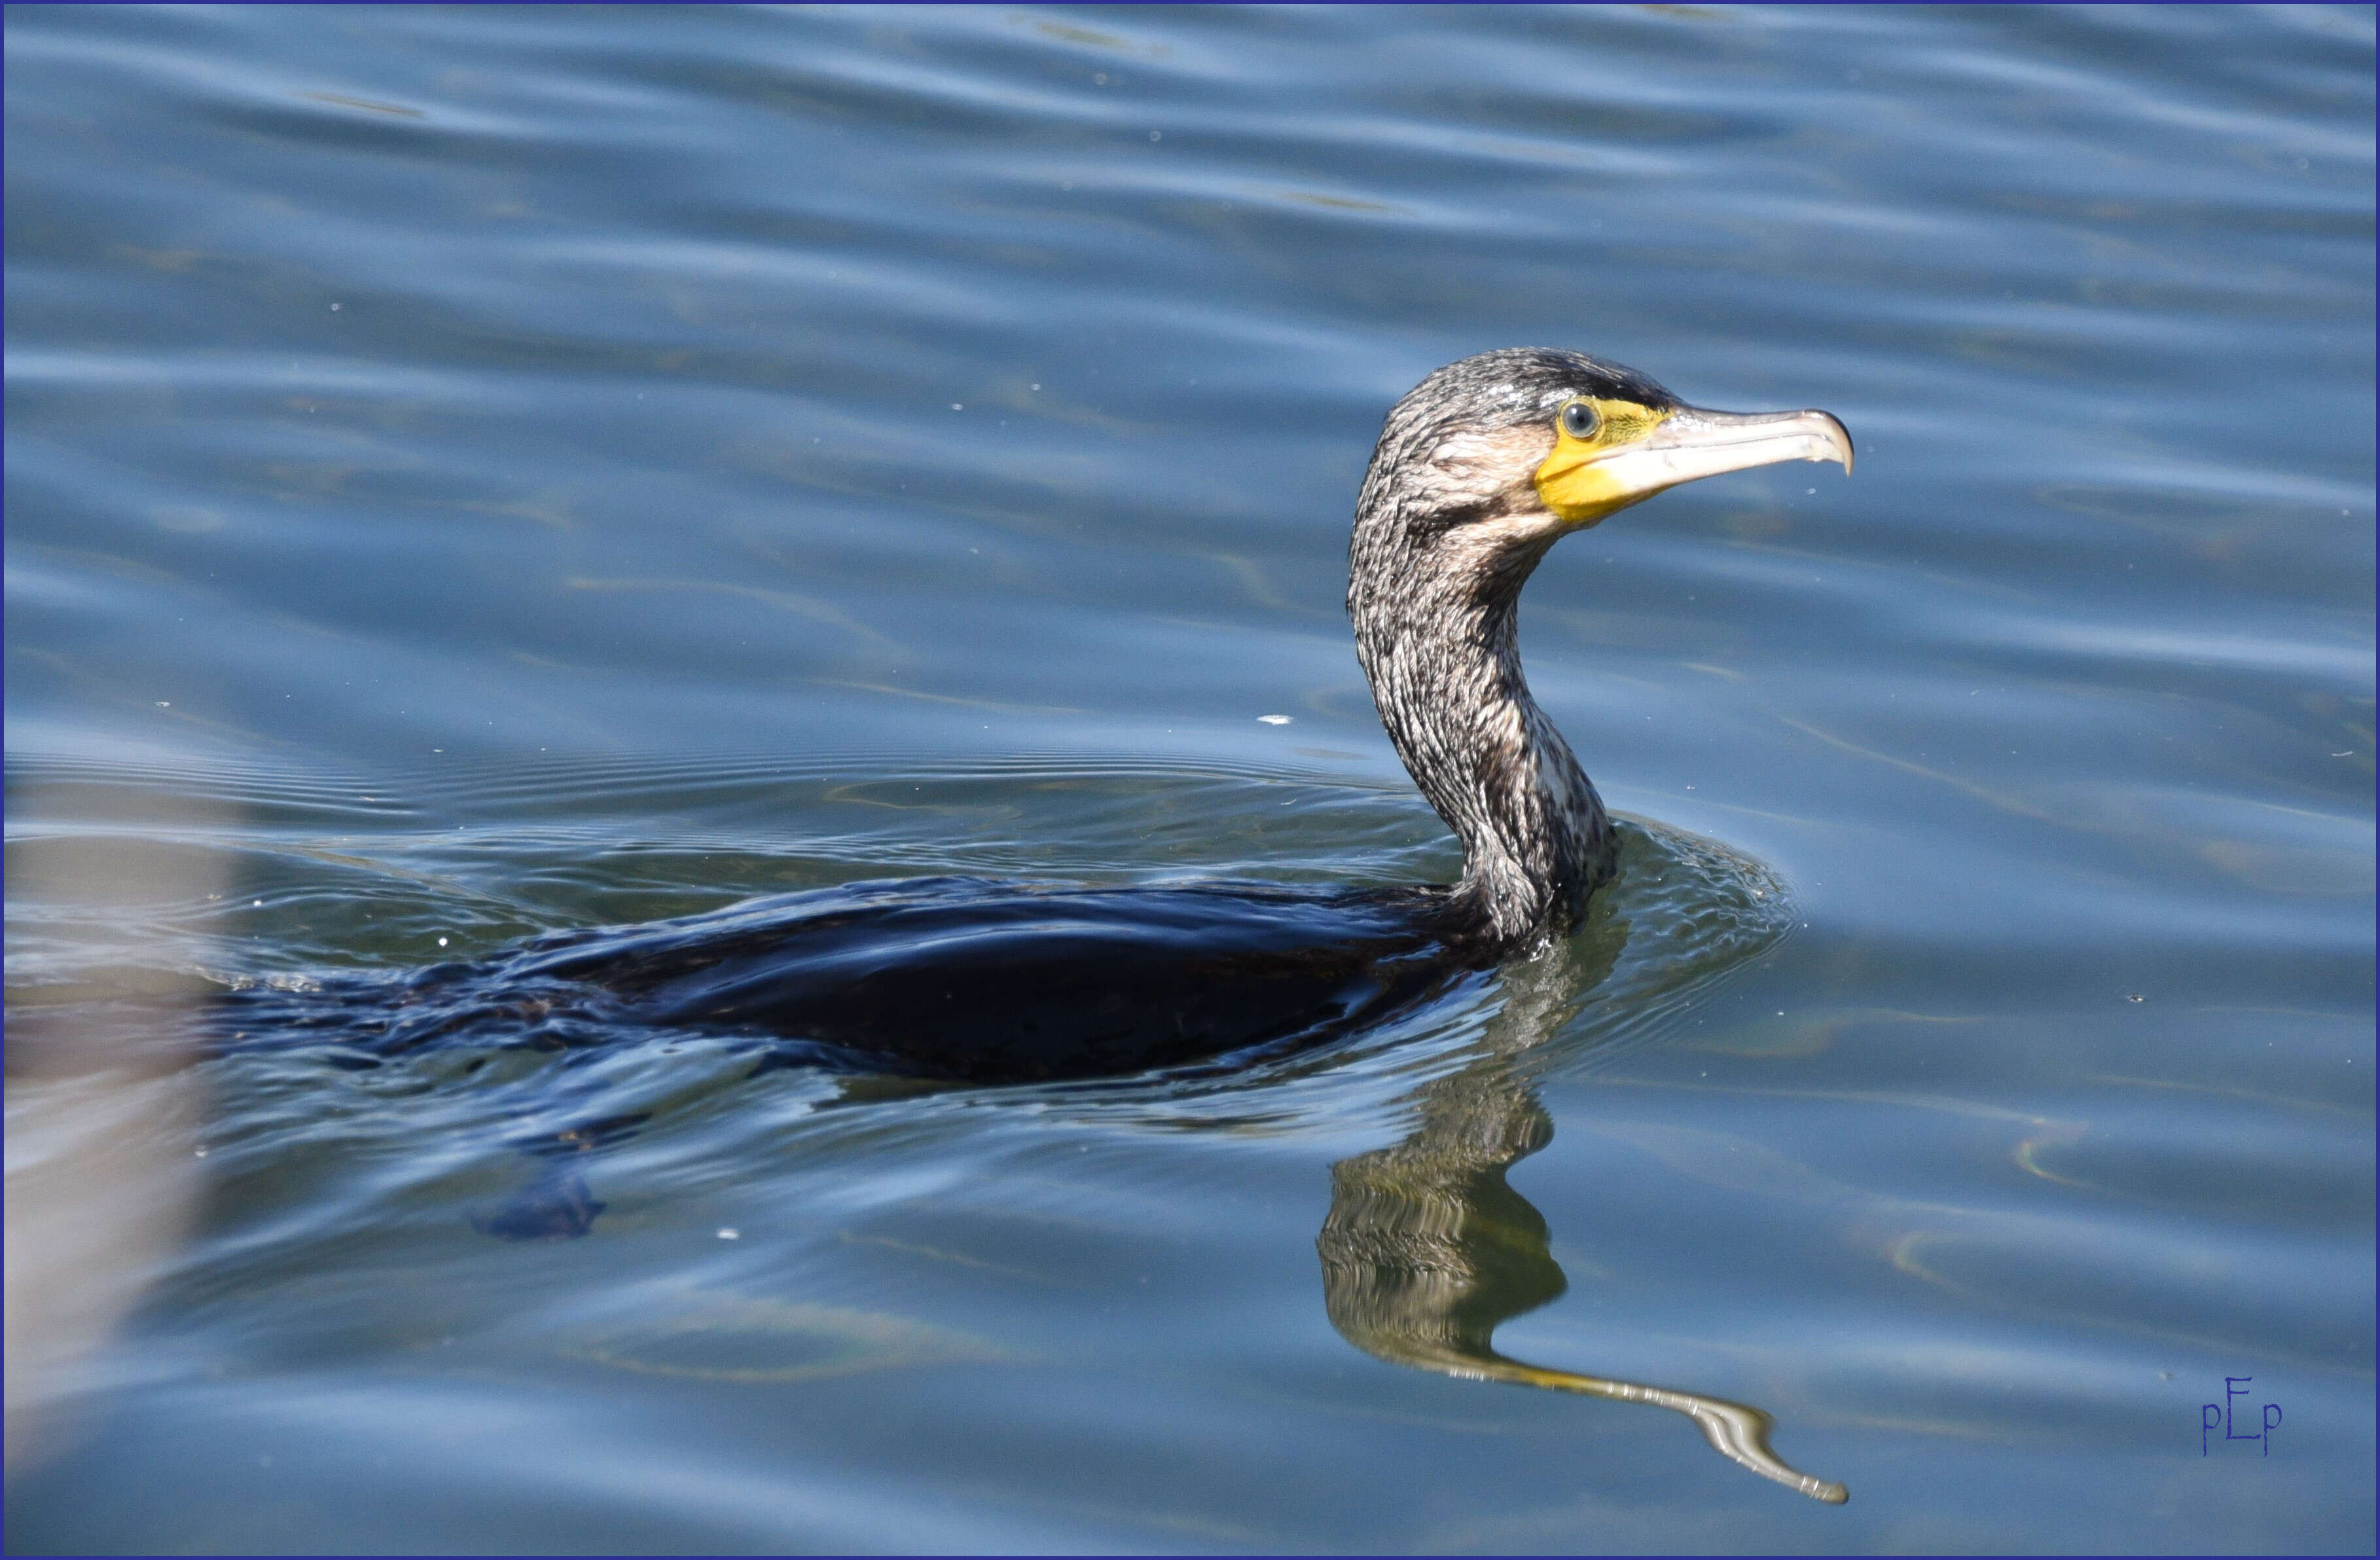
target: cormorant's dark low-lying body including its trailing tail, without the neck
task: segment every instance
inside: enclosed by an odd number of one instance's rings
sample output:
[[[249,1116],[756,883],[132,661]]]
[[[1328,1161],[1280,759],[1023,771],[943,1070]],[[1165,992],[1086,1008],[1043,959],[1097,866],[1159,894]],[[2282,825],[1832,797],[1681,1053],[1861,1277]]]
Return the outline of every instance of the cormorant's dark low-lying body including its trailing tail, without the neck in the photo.
[[[1307,1050],[1492,962],[1426,888],[928,876],[566,931],[407,974],[252,986],[221,1022],[233,1046],[302,1031],[355,1067],[424,1046],[574,1050],[678,1029],[750,1041],[764,1065],[1040,1084]]]

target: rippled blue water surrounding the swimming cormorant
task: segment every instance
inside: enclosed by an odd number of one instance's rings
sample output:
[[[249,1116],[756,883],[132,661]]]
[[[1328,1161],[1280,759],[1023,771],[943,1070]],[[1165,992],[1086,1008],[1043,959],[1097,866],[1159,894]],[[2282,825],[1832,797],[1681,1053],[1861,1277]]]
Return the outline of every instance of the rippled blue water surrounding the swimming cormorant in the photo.
[[[2370,1546],[2370,7],[36,5],[7,191],[12,1553]],[[1449,876],[1347,517],[1497,345],[1859,441],[1530,584],[1549,962],[1197,1086],[138,1043]],[[1849,1503],[1411,1358],[1366,1188]]]

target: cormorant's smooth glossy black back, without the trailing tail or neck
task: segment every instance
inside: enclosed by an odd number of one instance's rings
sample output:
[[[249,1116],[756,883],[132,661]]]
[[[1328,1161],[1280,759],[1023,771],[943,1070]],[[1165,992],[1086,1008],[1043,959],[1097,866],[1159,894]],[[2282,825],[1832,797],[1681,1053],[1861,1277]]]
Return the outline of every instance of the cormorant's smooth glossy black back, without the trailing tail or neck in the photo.
[[[516,974],[593,986],[645,1024],[1002,1084],[1323,1043],[1459,974],[1433,924],[1418,893],[945,876],[533,948]]]

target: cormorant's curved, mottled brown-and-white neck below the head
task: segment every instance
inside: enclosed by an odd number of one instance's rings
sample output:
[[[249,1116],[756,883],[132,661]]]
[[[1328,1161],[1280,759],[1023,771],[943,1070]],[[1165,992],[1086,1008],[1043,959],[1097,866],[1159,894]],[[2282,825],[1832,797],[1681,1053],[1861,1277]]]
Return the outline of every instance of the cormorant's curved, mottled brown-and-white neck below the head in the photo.
[[[1349,603],[1357,655],[1414,784],[1464,843],[1457,905],[1504,946],[1561,931],[1611,876],[1602,798],[1521,676],[1518,600],[1499,579]]]

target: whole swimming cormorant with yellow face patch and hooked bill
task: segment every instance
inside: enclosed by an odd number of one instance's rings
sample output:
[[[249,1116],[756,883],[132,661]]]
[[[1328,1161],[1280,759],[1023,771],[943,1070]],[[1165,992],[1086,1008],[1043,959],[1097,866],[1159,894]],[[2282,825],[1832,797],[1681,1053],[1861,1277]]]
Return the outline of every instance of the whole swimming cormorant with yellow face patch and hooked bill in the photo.
[[[1604,805],[1521,676],[1537,560],[1664,488],[1778,460],[1849,472],[1852,438],[1828,412],[1706,412],[1549,348],[1464,357],[1390,410],[1347,612],[1397,755],[1461,838],[1452,886],[859,884],[555,934],[345,993],[369,1000],[238,993],[281,1007],[243,1027],[338,1031],[378,1055],[693,1027],[752,1036],[781,1065],[973,1084],[1238,1067],[1349,1034],[1559,938],[1611,876]]]

